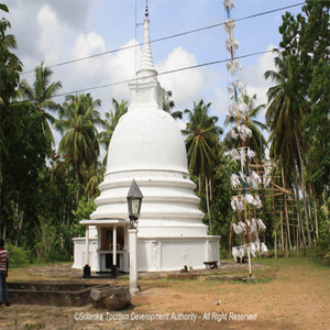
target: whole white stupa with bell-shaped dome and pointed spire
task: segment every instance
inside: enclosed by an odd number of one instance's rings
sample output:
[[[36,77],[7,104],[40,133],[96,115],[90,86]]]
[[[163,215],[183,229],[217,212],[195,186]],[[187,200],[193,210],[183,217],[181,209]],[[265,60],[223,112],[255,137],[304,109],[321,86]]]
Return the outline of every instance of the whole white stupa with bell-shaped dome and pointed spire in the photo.
[[[153,64],[148,25],[146,9],[141,66],[136,80],[129,84],[132,103],[113,132],[97,209],[90,220],[80,221],[87,235],[74,239],[77,268],[90,264],[91,271],[107,272],[117,265],[129,272],[127,196],[132,179],[144,196],[138,226],[139,271],[202,268],[206,261],[220,262],[220,238],[207,235],[183,135],[163,110],[164,89]]]

